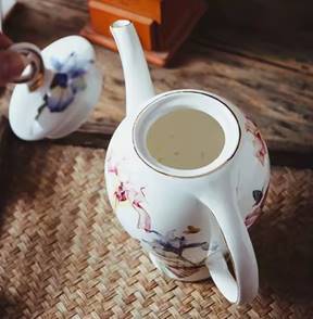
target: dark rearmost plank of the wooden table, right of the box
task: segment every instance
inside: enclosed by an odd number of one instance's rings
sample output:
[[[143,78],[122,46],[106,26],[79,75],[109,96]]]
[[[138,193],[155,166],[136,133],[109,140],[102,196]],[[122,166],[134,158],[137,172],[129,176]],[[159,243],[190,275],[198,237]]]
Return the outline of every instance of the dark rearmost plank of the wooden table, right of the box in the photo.
[[[202,21],[191,40],[202,47],[313,75],[312,30],[290,31],[274,37],[251,30],[205,28]]]

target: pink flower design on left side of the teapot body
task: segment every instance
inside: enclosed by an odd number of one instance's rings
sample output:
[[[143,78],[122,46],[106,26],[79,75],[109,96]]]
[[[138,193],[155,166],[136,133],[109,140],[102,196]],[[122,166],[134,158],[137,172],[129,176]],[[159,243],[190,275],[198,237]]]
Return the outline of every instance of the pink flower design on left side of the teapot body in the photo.
[[[118,164],[112,161],[112,156],[108,160],[108,171],[117,178],[117,188],[114,192],[115,206],[122,202],[128,202],[138,214],[137,228],[145,231],[151,230],[151,218],[146,208],[143,207],[146,196],[143,193],[145,187],[139,190],[136,189],[130,181],[122,181],[120,177]]]

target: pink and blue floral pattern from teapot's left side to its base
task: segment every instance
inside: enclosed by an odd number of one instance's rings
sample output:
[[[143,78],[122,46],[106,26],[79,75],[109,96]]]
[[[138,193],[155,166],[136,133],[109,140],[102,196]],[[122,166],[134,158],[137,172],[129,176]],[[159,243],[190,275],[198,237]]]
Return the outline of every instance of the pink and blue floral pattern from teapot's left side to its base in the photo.
[[[121,163],[127,160],[114,161],[112,154],[108,156],[108,173],[116,179],[114,191],[115,208],[124,203],[134,208],[138,214],[136,227],[145,232],[142,242],[147,251],[156,255],[163,261],[162,267],[166,267],[166,271],[170,271],[177,278],[187,278],[198,272],[201,268],[205,267],[204,261],[208,253],[217,250],[217,244],[211,244],[209,247],[209,243],[205,241],[192,241],[192,234],[201,231],[197,226],[187,226],[181,234],[178,234],[175,229],[165,234],[153,229],[151,217],[146,208],[145,187],[136,187],[123,176]],[[190,260],[185,255],[185,252],[192,248],[205,251],[205,258],[198,263]]]

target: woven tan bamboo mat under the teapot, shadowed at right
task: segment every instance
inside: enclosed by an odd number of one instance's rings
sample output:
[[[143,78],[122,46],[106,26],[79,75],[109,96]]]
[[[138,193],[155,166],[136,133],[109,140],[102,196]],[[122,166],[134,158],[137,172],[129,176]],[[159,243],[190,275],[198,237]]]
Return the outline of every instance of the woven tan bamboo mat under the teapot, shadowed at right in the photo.
[[[17,143],[0,225],[1,318],[313,318],[313,171],[274,168],[251,229],[258,298],[163,278],[105,197],[104,151]],[[5,195],[5,196],[4,196]]]

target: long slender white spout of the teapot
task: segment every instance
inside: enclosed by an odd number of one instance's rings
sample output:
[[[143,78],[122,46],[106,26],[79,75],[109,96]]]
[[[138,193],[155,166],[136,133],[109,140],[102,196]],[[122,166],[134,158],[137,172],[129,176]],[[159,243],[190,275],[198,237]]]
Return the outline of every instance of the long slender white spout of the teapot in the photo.
[[[118,20],[111,27],[125,78],[126,115],[139,113],[140,105],[154,95],[147,61],[132,22]]]

